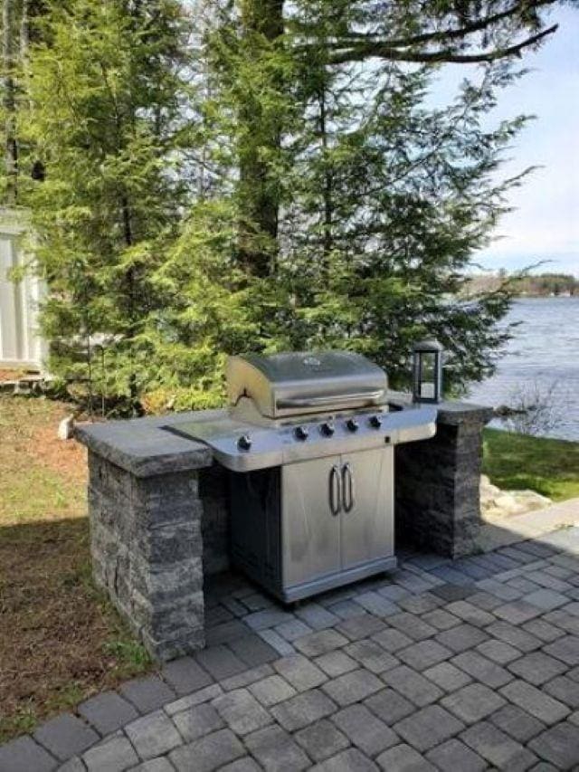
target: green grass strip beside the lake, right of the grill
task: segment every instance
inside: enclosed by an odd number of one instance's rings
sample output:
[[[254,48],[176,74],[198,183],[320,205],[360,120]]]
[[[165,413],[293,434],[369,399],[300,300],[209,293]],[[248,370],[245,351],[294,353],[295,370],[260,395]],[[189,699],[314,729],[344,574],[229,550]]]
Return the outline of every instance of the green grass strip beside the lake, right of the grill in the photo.
[[[507,491],[530,488],[554,501],[573,499],[579,496],[579,443],[486,429],[483,472]]]

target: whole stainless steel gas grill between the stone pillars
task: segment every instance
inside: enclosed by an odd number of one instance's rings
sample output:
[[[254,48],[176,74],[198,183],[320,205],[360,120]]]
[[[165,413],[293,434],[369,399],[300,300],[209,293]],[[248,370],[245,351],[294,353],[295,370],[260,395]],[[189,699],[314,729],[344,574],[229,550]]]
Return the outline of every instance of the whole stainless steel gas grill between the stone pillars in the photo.
[[[227,384],[227,413],[173,431],[232,472],[234,565],[288,603],[394,568],[394,445],[436,408],[390,409],[384,370],[344,351],[230,357]]]

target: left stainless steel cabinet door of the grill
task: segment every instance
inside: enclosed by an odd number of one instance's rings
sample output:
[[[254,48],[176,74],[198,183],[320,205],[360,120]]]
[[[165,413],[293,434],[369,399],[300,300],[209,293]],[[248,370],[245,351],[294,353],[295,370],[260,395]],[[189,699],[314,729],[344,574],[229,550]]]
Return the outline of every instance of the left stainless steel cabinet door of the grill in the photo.
[[[281,471],[281,555],[284,586],[339,571],[340,517],[332,512],[330,486],[340,457],[289,463]],[[337,486],[335,485],[335,493]],[[337,503],[335,496],[335,503]]]

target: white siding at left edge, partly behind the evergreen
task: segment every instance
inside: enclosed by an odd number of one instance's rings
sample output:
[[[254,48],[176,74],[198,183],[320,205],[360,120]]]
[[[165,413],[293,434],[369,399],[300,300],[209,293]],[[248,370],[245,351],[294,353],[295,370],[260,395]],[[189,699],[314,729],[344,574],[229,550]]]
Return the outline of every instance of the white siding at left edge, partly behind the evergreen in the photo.
[[[37,312],[43,284],[32,276],[17,283],[8,278],[24,262],[24,228],[22,214],[0,210],[0,367],[42,370],[47,346],[38,335]]]

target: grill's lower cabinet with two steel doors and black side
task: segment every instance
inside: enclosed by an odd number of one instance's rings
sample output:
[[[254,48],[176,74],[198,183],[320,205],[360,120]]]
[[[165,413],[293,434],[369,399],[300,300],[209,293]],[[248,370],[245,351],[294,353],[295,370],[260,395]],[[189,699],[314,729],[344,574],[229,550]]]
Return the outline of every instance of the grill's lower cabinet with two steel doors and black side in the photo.
[[[332,486],[348,474],[337,508]],[[284,603],[396,566],[392,448],[233,472],[231,484],[233,566]]]

